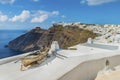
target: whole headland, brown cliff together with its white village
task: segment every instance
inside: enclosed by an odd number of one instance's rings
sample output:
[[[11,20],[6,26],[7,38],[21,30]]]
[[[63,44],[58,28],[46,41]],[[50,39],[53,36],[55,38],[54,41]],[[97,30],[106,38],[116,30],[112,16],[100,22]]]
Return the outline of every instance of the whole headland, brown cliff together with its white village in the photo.
[[[50,46],[58,41],[61,48],[85,43],[88,38],[102,43],[120,42],[120,25],[98,25],[85,23],[55,23],[48,30],[36,27],[9,42],[8,47],[15,51],[29,52]]]

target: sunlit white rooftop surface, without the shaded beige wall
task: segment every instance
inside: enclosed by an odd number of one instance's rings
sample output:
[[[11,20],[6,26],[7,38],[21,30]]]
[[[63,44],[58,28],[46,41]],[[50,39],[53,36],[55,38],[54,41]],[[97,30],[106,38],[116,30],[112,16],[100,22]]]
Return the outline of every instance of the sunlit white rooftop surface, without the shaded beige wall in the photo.
[[[63,57],[59,55],[58,57],[51,56],[42,64],[26,71],[20,71],[21,61],[18,60],[19,55],[17,59],[0,65],[0,80],[57,80],[85,61],[119,54],[117,50],[114,50],[116,53],[113,54],[113,50],[87,45],[79,44],[74,47],[77,50],[59,50],[57,53],[63,55]],[[5,60],[7,59],[9,58]]]

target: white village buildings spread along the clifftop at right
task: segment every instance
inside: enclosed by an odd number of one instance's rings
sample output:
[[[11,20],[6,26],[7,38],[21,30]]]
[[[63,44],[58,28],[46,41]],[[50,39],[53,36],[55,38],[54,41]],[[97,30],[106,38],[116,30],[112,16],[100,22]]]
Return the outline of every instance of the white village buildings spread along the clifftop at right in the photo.
[[[80,22],[76,23],[55,23],[55,25],[66,26],[77,26],[81,29],[90,30],[94,33],[98,33],[99,36],[94,39],[94,42],[100,43],[120,43],[120,25],[114,24],[84,24]]]

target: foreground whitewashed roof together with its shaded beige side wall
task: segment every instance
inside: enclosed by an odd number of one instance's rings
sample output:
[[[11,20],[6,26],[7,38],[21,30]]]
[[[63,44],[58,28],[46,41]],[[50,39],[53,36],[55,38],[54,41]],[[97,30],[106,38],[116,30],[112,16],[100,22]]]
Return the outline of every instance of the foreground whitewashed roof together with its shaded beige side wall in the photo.
[[[109,60],[111,68],[120,65],[119,49],[109,50],[85,45],[74,47],[77,50],[57,52],[67,58],[52,56],[40,66],[27,71],[20,71],[21,62],[15,63],[16,59],[25,54],[12,59],[13,61],[8,59],[6,62],[12,62],[0,66],[0,80],[94,80],[97,73],[105,67],[106,60]]]

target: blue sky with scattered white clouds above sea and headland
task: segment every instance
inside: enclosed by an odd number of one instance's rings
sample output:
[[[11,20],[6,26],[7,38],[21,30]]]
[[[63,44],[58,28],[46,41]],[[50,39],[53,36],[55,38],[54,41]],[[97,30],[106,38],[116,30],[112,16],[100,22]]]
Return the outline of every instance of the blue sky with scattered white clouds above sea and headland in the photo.
[[[48,29],[57,22],[120,24],[120,0],[0,0],[0,29]]]

